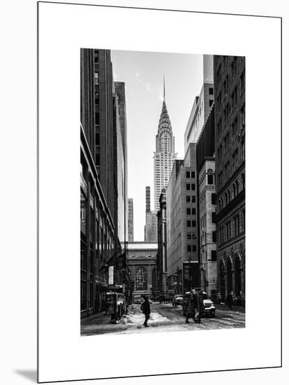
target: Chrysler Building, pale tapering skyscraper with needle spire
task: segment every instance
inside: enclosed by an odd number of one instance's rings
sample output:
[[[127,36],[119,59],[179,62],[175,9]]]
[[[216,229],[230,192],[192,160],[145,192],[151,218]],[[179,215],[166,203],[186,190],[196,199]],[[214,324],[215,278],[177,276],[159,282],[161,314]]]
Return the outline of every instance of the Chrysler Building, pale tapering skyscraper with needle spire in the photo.
[[[165,104],[165,78],[163,79],[163,109],[158,123],[156,135],[156,151],[154,152],[154,209],[159,209],[161,190],[168,186],[172,166],[177,154],[175,153],[175,137],[172,136],[172,126]]]

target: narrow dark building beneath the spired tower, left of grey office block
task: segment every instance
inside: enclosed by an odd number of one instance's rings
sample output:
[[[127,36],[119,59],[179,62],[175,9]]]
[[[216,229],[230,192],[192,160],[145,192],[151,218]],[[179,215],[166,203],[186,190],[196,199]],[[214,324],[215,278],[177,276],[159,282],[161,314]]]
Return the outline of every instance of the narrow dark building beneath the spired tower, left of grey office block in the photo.
[[[165,188],[160,195],[158,218],[158,254],[156,256],[156,282],[158,293],[168,293],[168,260],[167,260],[167,208]]]

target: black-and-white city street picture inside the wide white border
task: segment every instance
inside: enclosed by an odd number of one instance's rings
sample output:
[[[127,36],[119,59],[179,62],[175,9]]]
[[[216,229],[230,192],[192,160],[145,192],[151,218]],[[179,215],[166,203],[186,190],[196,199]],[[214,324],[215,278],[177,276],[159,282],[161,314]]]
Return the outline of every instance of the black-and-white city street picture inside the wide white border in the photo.
[[[245,328],[245,57],[80,49],[80,333]]]

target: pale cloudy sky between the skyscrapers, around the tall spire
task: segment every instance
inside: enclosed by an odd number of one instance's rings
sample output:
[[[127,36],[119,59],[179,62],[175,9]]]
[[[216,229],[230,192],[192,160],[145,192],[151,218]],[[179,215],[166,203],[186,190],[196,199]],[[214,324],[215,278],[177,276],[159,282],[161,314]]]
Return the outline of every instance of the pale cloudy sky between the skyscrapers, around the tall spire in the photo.
[[[112,50],[114,81],[125,83],[128,141],[128,197],[133,198],[134,241],[144,241],[145,187],[154,209],[154,151],[165,102],[177,158],[184,157],[184,132],[202,87],[202,55]]]

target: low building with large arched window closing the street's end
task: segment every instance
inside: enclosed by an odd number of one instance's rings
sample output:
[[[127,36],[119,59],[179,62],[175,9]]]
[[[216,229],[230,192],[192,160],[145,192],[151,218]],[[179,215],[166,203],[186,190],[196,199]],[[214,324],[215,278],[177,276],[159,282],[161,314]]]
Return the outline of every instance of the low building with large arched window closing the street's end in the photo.
[[[140,303],[144,295],[154,295],[156,290],[156,242],[128,242],[128,274],[132,300]]]

